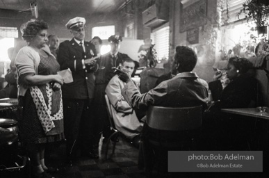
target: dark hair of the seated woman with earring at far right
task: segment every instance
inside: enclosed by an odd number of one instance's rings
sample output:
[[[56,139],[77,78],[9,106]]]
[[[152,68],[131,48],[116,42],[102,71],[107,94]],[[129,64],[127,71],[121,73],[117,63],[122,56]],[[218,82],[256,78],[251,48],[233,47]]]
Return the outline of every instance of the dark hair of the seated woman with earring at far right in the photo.
[[[228,63],[234,65],[234,67],[239,70],[241,74],[246,73],[253,67],[253,64],[247,58],[238,58],[236,56],[229,58]]]

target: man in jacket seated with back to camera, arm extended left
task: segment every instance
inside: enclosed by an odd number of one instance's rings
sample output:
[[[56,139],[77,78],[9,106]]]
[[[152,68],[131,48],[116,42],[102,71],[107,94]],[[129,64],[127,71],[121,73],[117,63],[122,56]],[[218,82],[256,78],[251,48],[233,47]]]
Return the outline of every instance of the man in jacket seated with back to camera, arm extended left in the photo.
[[[172,79],[163,81],[149,92],[140,94],[131,76],[126,70],[118,72],[120,79],[127,83],[122,95],[129,104],[136,108],[147,106],[197,106],[206,108],[208,98],[208,84],[199,79],[197,74],[191,72],[197,63],[197,56],[193,49],[184,46],[176,48],[172,66],[177,68],[177,75]]]

